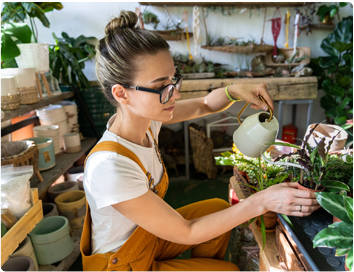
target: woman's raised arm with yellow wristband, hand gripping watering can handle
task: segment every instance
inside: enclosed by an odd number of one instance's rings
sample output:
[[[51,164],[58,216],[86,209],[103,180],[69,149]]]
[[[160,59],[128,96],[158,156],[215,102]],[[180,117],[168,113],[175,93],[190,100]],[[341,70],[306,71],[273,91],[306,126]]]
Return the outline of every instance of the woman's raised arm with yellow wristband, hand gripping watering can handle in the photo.
[[[251,107],[256,110],[260,108],[268,110],[267,105],[258,98],[258,95],[262,95],[270,107],[274,109],[266,84],[235,83],[228,87],[228,92],[235,99],[241,98],[243,101],[252,103]],[[227,97],[225,87],[219,88],[202,98],[177,101],[173,118],[164,124],[178,123],[221,112],[229,108],[233,103]]]

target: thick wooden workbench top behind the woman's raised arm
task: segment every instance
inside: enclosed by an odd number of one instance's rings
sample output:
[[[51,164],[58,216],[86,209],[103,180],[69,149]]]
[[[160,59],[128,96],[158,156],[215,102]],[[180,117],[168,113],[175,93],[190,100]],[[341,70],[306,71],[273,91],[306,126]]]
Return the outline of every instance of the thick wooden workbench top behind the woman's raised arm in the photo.
[[[226,87],[230,83],[266,83],[273,100],[316,99],[318,82],[316,77],[295,78],[223,78],[195,79],[183,81],[181,94],[184,92],[211,91]]]

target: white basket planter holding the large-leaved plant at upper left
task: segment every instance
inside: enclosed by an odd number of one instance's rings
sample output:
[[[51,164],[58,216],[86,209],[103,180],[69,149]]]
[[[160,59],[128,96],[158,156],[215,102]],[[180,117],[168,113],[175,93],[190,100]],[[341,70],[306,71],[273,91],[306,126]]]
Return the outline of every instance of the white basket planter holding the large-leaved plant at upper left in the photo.
[[[16,57],[19,68],[35,68],[36,73],[49,71],[49,48],[47,43],[18,44],[21,55]]]

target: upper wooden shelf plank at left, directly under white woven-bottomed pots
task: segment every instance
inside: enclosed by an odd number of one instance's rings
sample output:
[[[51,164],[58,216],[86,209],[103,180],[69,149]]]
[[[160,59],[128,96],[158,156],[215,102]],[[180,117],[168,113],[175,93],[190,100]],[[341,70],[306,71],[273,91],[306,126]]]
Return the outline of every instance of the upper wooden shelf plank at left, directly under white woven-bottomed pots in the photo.
[[[15,118],[19,115],[25,114],[25,113],[30,112],[32,110],[45,107],[49,104],[53,104],[53,103],[56,103],[56,102],[64,100],[64,99],[68,99],[73,96],[74,96],[73,92],[65,92],[65,93],[61,93],[59,95],[53,95],[52,97],[45,97],[45,98],[43,98],[43,100],[40,100],[39,102],[37,102],[35,104],[21,105],[18,109],[4,111],[5,117],[3,119],[0,119],[0,122],[10,120],[12,118]]]

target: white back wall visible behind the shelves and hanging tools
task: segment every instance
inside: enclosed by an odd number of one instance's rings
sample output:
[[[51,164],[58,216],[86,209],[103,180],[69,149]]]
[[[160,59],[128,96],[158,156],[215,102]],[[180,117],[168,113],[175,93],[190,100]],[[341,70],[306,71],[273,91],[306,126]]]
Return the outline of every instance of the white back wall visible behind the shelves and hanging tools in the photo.
[[[61,11],[54,11],[47,13],[47,17],[51,23],[50,29],[42,26],[40,22],[37,21],[37,27],[39,32],[39,42],[48,42],[52,44],[54,42],[52,38],[52,32],[55,32],[57,36],[60,35],[62,31],[67,32],[70,36],[77,37],[79,35],[85,36],[95,36],[97,38],[102,38],[104,35],[104,27],[109,22],[111,18],[118,15],[121,9],[125,10],[135,10],[139,6],[136,0],[61,0],[64,5],[64,9]],[[334,1],[324,0],[322,4],[331,4]],[[354,9],[350,7],[349,0],[346,0],[349,5],[340,11],[341,17],[349,16],[354,14]],[[141,6],[141,9],[144,10],[145,6]],[[301,8],[303,10],[303,8]],[[148,7],[148,10],[157,14],[162,21],[165,23],[167,21],[167,15],[165,9],[161,7]],[[174,19],[181,18],[182,12],[187,10],[189,12],[189,29],[192,29],[192,7],[186,8],[174,8],[169,7],[168,11]],[[295,10],[289,8],[292,18],[291,24],[294,22]],[[209,11],[209,14],[206,18],[208,32],[218,37],[228,36],[228,37],[243,37],[245,40],[250,38],[256,38],[256,41],[259,42],[262,36],[262,27],[264,19],[264,9],[252,9],[251,15],[250,10],[243,10],[238,8],[235,13],[232,13],[231,16],[225,16],[221,14],[221,11],[212,12]],[[268,8],[267,20],[271,19],[274,14],[275,8]],[[284,16],[286,9],[280,9],[281,14]],[[317,21],[317,18],[314,18],[314,21]],[[335,19],[337,21],[337,18]],[[282,24],[281,33],[278,38],[277,45],[278,47],[283,47],[285,43],[285,25]],[[148,27],[147,27],[148,28]],[[305,35],[303,32],[298,38],[298,46],[309,46],[311,47],[311,57],[318,57],[323,55],[323,51],[320,48],[320,44],[323,38],[325,38],[330,31],[326,30],[313,30],[313,34]],[[204,44],[206,41],[204,24],[201,18],[201,33],[200,33],[200,43]],[[289,31],[289,45],[293,45],[293,27]],[[271,34],[271,22],[266,22],[265,25],[265,36],[264,41],[267,44],[273,44],[273,38]],[[172,51],[187,52],[187,44],[185,41],[180,42],[169,42],[171,45]],[[191,42],[191,49],[194,52],[194,42]],[[200,46],[200,45],[199,45]],[[243,56],[231,53],[208,51],[204,49],[198,50],[199,54],[205,56],[207,60],[214,62],[219,62],[222,64],[227,64],[231,69],[237,66],[238,60],[244,58]],[[196,59],[200,59],[200,56],[196,56]],[[94,64],[93,61],[88,61],[85,73],[90,80],[96,80],[94,74]],[[246,67],[245,62],[243,67]],[[313,122],[319,122],[325,119],[324,110],[320,107],[319,99],[323,95],[320,91],[319,96],[315,101],[315,107],[313,111]],[[243,104],[242,104],[243,105]],[[233,115],[237,115],[238,111],[242,107],[241,104],[235,104],[232,106],[228,112]],[[252,114],[253,110],[248,110],[247,114]],[[275,115],[277,116],[277,104]],[[299,128],[299,137],[302,138],[303,134],[306,131],[306,114],[307,114],[307,105],[299,105],[297,107],[297,116],[296,116],[296,126]],[[215,115],[209,117],[209,120],[215,120],[220,118],[220,115]],[[285,107],[284,114],[284,125],[291,122],[291,106]]]

